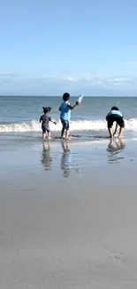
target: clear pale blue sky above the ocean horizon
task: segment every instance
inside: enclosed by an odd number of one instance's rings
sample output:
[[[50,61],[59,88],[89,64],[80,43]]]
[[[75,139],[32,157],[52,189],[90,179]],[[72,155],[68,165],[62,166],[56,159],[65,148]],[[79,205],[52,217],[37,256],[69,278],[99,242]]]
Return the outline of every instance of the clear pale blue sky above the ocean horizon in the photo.
[[[136,0],[1,0],[0,94],[137,96]]]

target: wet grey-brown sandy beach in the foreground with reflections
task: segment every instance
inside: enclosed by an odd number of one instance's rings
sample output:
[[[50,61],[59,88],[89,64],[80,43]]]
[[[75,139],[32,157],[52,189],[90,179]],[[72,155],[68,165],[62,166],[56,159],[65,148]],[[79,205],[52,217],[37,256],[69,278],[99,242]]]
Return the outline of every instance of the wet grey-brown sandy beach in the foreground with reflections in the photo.
[[[1,140],[1,289],[136,289],[136,145]]]

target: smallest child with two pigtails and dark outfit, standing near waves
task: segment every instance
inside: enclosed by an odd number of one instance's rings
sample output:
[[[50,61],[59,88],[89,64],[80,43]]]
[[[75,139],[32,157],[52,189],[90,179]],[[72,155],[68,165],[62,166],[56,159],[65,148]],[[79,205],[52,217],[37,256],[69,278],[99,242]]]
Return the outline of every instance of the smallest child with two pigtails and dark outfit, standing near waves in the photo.
[[[49,129],[49,122],[53,124],[57,124],[55,121],[51,119],[49,116],[49,112],[51,108],[42,108],[43,109],[43,115],[40,117],[40,124],[42,122],[42,139],[45,139],[46,132],[48,132],[48,139],[50,139],[50,129]]]

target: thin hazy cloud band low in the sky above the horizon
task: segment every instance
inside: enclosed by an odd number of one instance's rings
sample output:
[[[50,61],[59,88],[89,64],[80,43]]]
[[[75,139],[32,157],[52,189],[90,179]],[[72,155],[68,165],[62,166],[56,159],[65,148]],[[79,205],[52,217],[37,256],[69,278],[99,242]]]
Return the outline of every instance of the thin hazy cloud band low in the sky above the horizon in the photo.
[[[65,89],[71,91],[88,90],[93,91],[97,89],[102,90],[126,90],[137,89],[137,76],[99,76],[95,73],[65,76],[64,74],[58,76],[27,76],[27,75],[13,75],[0,74],[0,93],[9,92],[29,92],[36,93],[62,93]]]

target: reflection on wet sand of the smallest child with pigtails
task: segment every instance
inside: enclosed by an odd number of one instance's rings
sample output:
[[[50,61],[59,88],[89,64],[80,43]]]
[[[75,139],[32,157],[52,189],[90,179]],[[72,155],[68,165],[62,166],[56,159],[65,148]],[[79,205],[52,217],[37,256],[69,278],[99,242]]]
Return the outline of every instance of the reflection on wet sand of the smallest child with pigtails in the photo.
[[[51,171],[51,165],[52,165],[52,157],[50,157],[50,143],[49,141],[42,142],[42,158],[41,158],[41,163],[45,167],[46,171]]]

